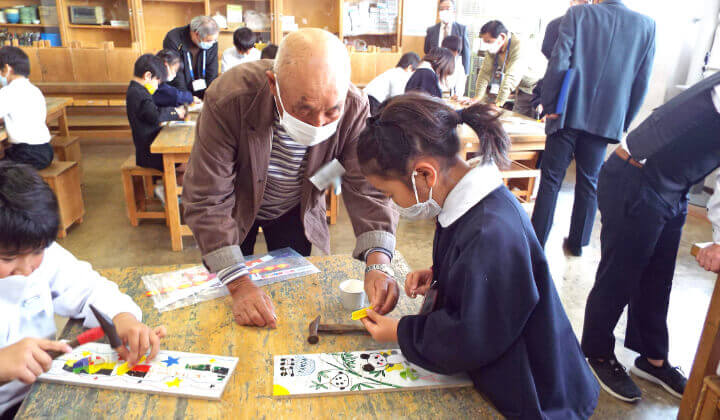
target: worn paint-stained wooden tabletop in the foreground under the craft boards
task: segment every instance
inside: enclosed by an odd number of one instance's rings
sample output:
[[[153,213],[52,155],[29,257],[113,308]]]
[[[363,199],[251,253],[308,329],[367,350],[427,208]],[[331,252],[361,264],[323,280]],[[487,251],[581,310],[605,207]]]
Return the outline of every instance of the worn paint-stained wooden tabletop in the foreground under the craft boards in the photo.
[[[230,316],[230,297],[158,313],[152,301],[143,297],[140,277],[177,266],[103,271],[140,304],[148,325],[162,323],[168,327],[163,348],[240,358],[222,401],[38,383],[25,399],[18,418],[501,418],[473,388],[274,399],[273,355],[396,346],[378,344],[365,336],[321,336],[317,345],[308,344],[308,323],[318,314],[327,322],[352,322],[349,312],[342,309],[338,285],[347,278],[362,278],[363,272],[363,265],[349,256],[311,257],[310,261],[321,270],[319,274],[265,288],[279,317],[276,330],[236,325]],[[393,265],[398,279],[404,279],[408,266],[403,257],[398,255]],[[402,293],[392,315],[416,313],[419,303],[419,299]],[[73,322],[63,337],[79,332],[78,326]]]

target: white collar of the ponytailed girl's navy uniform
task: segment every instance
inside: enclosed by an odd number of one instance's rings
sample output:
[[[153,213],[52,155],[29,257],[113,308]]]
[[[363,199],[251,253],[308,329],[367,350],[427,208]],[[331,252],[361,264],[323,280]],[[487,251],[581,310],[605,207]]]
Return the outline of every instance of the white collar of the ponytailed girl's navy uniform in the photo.
[[[455,185],[445,197],[438,215],[440,226],[446,228],[502,185],[502,176],[495,163],[477,165]]]

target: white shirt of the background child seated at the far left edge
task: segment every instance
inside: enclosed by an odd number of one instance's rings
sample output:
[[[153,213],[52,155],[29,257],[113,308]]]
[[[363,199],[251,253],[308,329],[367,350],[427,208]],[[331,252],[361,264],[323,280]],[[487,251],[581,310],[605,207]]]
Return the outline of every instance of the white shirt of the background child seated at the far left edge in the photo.
[[[28,79],[15,79],[0,89],[0,118],[5,121],[10,143],[49,142],[46,116],[45,97]]]

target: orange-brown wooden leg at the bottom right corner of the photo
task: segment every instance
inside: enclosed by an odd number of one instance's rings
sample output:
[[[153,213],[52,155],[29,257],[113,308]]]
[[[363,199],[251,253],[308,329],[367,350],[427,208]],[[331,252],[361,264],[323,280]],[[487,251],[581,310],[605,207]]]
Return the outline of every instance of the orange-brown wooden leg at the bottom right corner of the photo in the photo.
[[[708,375],[715,374],[718,362],[720,362],[720,278],[715,282],[715,290],[710,299],[700,344],[698,344],[690,378],[680,403],[678,419],[690,420],[693,418],[702,390],[703,379]]]

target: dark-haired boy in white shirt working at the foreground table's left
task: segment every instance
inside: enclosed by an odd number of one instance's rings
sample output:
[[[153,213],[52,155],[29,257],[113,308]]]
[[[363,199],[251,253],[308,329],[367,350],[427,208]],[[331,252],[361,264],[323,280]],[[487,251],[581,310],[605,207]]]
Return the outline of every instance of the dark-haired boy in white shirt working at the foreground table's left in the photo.
[[[57,199],[42,178],[27,165],[0,162],[2,418],[12,418],[30,384],[50,368],[47,351],[70,351],[53,341],[56,314],[84,318],[85,327],[96,327],[89,306],[95,305],[129,345],[116,349],[129,365],[148,350],[148,359],[154,358],[165,335],[165,327],[151,330],[140,322],[140,308],[115,283],[54,242],[58,223]]]

